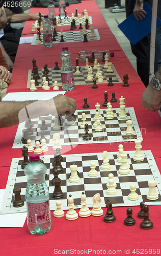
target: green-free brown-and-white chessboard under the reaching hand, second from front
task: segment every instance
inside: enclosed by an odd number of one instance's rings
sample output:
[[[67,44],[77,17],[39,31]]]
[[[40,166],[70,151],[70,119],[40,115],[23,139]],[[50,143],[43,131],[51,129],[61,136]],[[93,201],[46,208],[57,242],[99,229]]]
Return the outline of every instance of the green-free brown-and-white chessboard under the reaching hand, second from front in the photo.
[[[60,130],[53,130],[52,127],[55,125],[54,119],[51,115],[43,116],[39,118],[32,119],[32,127],[33,135],[29,136],[27,139],[32,140],[32,145],[35,146],[35,141],[40,140],[41,138],[41,126],[42,119],[45,119],[45,125],[47,126],[47,130],[44,131],[44,136],[46,138],[46,146],[53,146],[52,137],[53,134],[58,133],[60,135],[60,143],[61,145],[77,145],[77,144],[91,144],[91,143],[113,143],[113,142],[125,142],[125,141],[135,141],[137,138],[143,140],[142,134],[139,128],[139,124],[136,118],[136,114],[133,108],[126,108],[127,118],[121,119],[119,118],[119,110],[113,109],[114,119],[108,120],[106,119],[105,109],[100,110],[100,114],[102,115],[102,132],[96,132],[93,123],[94,123],[94,115],[95,110],[85,110],[86,114],[86,122],[88,123],[89,134],[92,137],[91,140],[85,141],[83,140],[83,136],[85,135],[84,129],[81,129],[80,125],[82,123],[82,112],[81,110],[76,110],[74,113],[75,124],[67,125],[66,116],[62,116],[59,124],[61,125]],[[133,135],[126,135],[127,129],[127,120],[133,121]],[[25,122],[20,123],[18,125],[18,129],[16,132],[15,140],[13,143],[13,148],[22,148],[22,138],[23,133],[22,130],[25,128]]]

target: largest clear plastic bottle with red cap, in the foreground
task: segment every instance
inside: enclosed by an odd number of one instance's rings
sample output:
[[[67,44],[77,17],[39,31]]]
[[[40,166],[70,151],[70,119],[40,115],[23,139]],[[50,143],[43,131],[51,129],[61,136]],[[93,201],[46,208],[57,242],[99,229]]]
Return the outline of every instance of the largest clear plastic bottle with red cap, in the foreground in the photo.
[[[28,178],[25,192],[28,228],[32,234],[44,234],[51,227],[49,193],[45,182],[46,166],[40,162],[39,154],[30,154],[29,161],[24,168]]]

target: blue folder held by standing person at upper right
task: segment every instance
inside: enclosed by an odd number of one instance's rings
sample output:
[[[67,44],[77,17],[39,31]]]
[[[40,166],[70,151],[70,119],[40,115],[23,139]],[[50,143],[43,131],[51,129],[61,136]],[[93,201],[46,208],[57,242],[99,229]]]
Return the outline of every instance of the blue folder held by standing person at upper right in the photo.
[[[137,44],[137,42],[139,42],[142,38],[151,32],[152,9],[147,3],[144,5],[143,9],[147,14],[142,20],[137,20],[134,14],[131,14],[118,25],[119,29],[129,39],[132,45]],[[161,20],[157,16],[156,27],[159,25],[161,25]]]

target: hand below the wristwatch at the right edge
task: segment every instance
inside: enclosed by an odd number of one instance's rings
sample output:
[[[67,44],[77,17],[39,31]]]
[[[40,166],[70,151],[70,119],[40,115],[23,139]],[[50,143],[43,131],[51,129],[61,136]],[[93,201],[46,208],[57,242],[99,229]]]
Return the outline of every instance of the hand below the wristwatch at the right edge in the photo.
[[[155,90],[150,83],[142,94],[144,108],[155,112],[161,108],[161,91]]]

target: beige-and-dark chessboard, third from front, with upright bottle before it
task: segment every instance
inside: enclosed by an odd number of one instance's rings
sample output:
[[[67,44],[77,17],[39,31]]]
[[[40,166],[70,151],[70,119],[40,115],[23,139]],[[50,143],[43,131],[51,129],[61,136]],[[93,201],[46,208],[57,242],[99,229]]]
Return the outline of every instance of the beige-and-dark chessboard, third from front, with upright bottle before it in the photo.
[[[102,71],[102,75],[103,75],[103,82],[101,83],[108,83],[109,82],[109,77],[112,77],[112,81],[113,83],[118,83],[118,82],[122,82],[119,74],[117,73],[114,65],[112,65],[112,73],[108,73],[106,72],[107,69],[103,69],[104,65],[101,65],[101,71]],[[93,65],[91,66],[93,68]],[[79,66],[80,68],[80,75],[75,74],[75,67],[73,67],[73,74],[74,74],[74,85],[75,86],[80,86],[83,84],[93,84],[93,80],[89,81],[87,80],[87,75],[88,75],[88,71],[85,70],[85,66]],[[54,68],[48,68],[49,73],[48,73],[48,78],[49,78],[49,86],[53,87],[54,86],[54,82],[58,81],[58,86],[62,86],[62,80],[61,80],[61,71],[60,70],[54,70]],[[37,87],[42,87],[43,86],[43,71],[44,69],[38,69],[38,74],[40,76],[40,79],[38,80],[39,86]],[[98,80],[98,78],[95,76],[97,73],[97,70],[93,70],[93,79],[95,78],[96,81]],[[31,79],[33,79],[33,74],[32,74],[32,70],[29,70],[28,72],[28,83],[27,83],[27,88],[30,88],[31,86]],[[97,82],[97,84],[99,84]]]

